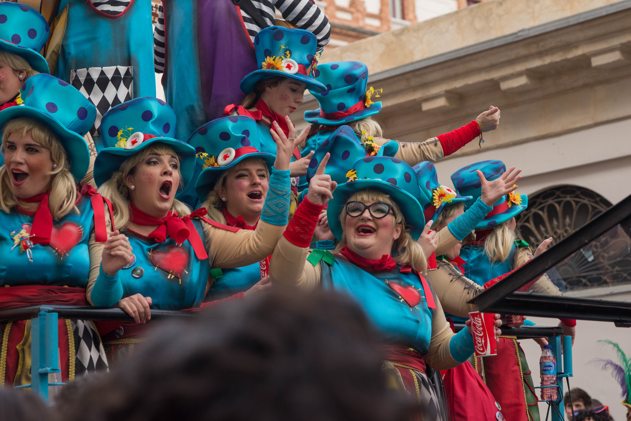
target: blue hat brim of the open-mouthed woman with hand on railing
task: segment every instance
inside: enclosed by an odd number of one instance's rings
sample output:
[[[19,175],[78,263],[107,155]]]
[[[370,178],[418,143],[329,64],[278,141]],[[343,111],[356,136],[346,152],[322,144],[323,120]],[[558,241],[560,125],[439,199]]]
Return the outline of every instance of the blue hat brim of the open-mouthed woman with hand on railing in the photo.
[[[160,137],[148,139],[133,149],[116,148],[112,146],[100,150],[94,162],[94,181],[97,186],[101,186],[101,184],[108,181],[112,177],[112,174],[121,168],[122,163],[125,162],[127,158],[155,143],[163,143],[164,145],[170,146],[179,156],[180,174],[182,175],[179,189],[184,189],[191,181],[195,171],[195,148],[177,139]]]

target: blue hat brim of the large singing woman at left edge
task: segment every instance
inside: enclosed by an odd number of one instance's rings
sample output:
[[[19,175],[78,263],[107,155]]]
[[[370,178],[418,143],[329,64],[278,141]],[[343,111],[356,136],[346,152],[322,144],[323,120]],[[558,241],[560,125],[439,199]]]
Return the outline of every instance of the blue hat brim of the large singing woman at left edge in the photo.
[[[2,110],[0,112],[0,126],[4,127],[4,124],[9,120],[20,117],[37,120],[48,127],[50,131],[55,134],[56,138],[59,139],[61,145],[64,146],[64,150],[66,150],[66,155],[68,155],[70,161],[70,173],[77,181],[85,177],[86,172],[88,172],[88,167],[90,167],[90,150],[82,136],[66,129],[61,122],[45,114],[45,112],[29,107],[28,105],[16,105],[15,107]]]

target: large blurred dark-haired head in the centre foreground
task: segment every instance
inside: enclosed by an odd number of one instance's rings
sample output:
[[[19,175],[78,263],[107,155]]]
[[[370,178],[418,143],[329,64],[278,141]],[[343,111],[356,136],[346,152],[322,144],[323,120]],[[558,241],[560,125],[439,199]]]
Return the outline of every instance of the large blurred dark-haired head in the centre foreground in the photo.
[[[273,292],[169,323],[64,420],[404,420],[380,338],[342,295]],[[403,405],[402,405],[403,403]]]

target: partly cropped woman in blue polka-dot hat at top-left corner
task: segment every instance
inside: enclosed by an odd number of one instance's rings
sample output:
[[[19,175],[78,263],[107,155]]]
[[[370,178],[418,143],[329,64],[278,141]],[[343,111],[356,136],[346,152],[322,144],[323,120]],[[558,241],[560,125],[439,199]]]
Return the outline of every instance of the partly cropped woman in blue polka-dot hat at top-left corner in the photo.
[[[50,35],[44,16],[26,4],[0,3],[0,110],[19,105],[20,86],[33,74],[49,73],[39,54]]]

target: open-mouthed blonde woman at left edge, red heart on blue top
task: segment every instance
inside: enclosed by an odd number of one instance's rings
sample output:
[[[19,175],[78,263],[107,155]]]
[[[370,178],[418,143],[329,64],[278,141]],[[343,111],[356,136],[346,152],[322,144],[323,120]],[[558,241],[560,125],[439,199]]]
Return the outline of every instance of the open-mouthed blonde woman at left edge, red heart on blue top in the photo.
[[[20,92],[20,105],[0,111],[0,309],[88,305],[91,261],[100,256],[112,227],[110,204],[90,186],[78,191],[76,184],[90,162],[81,135],[97,111],[73,86],[50,74],[35,74]],[[21,352],[18,345],[29,340],[30,321],[0,324],[0,329],[7,338],[0,382],[29,384],[30,348]],[[72,345],[68,335],[80,339]],[[62,381],[107,367],[90,322],[59,320],[59,343]]]

